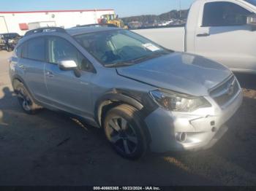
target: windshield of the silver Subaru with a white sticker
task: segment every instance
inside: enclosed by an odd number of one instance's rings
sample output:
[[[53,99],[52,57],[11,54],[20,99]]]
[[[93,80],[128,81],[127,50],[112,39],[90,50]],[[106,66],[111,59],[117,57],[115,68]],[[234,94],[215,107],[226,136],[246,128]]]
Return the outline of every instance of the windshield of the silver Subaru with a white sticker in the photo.
[[[82,34],[75,39],[104,66],[134,64],[170,52],[127,30]]]

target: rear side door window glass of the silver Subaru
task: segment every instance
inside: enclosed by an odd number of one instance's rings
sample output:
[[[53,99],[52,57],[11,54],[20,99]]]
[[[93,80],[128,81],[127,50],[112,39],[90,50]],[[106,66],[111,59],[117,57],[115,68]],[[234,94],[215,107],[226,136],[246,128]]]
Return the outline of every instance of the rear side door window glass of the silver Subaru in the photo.
[[[26,49],[23,48],[23,58],[36,61],[45,61],[45,39],[36,38],[26,42]]]

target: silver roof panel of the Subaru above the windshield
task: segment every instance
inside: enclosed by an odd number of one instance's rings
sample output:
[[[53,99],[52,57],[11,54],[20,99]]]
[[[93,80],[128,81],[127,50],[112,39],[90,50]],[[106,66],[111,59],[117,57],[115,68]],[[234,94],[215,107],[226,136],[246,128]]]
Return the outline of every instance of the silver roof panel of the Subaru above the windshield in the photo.
[[[105,26],[83,26],[83,27],[74,27],[66,29],[67,33],[71,36],[75,36],[78,34],[89,34],[94,32],[101,32],[101,31],[115,31],[121,30],[121,28],[116,27],[105,27]]]

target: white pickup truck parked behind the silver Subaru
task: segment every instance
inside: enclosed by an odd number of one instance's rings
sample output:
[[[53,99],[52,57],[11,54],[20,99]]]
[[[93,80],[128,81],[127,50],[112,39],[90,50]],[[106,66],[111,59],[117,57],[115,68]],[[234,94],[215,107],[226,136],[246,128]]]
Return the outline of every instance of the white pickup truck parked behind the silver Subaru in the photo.
[[[187,25],[135,30],[170,50],[190,52],[233,71],[256,74],[256,0],[196,0]]]

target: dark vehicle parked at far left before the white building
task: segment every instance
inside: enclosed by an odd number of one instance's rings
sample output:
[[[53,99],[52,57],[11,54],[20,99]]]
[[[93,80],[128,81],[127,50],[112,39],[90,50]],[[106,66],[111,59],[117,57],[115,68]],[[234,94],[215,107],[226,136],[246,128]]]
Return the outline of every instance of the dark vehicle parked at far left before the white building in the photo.
[[[21,36],[17,33],[0,34],[0,50],[7,50],[8,52],[14,50],[20,38]]]

